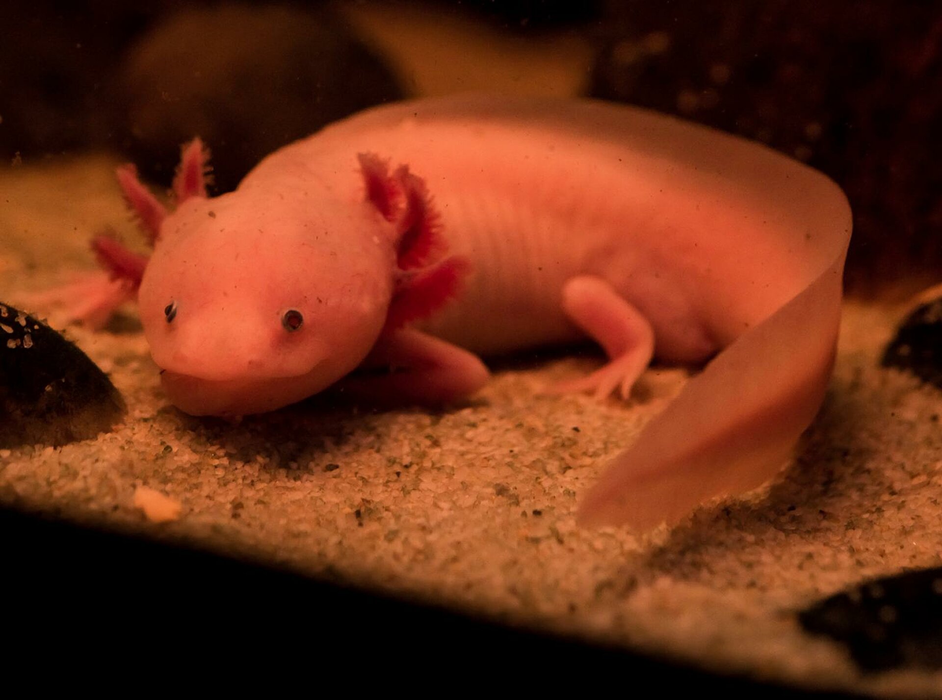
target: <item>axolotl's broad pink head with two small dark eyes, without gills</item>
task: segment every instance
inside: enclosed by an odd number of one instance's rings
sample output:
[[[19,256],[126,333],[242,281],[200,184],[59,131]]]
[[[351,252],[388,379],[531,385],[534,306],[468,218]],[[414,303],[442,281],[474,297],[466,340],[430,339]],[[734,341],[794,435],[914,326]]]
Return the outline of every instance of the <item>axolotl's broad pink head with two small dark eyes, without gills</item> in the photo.
[[[375,212],[273,204],[192,198],[163,222],[138,302],[164,390],[187,413],[299,401],[353,370],[382,330],[394,251]]]

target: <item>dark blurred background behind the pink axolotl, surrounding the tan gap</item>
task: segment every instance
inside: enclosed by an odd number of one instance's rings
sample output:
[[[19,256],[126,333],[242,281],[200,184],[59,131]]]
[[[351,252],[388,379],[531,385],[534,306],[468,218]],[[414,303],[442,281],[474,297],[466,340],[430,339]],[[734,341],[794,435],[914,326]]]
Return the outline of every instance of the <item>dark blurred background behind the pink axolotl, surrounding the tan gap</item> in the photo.
[[[199,134],[216,191],[232,189],[285,143],[420,92],[349,21],[346,10],[375,7],[460,18],[524,47],[575,37],[590,59],[574,92],[747,136],[840,183],[854,210],[853,294],[942,280],[935,3],[11,0],[0,5],[0,156],[104,148],[166,184],[179,145]]]

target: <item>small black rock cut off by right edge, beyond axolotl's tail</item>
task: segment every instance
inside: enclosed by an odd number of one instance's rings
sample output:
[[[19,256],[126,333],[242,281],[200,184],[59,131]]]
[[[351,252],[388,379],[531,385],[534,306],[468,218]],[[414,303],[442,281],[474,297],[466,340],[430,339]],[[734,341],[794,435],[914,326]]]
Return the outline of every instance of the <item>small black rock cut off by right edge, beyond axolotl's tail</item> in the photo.
[[[942,389],[942,297],[921,304],[886,346],[881,364],[916,374]]]

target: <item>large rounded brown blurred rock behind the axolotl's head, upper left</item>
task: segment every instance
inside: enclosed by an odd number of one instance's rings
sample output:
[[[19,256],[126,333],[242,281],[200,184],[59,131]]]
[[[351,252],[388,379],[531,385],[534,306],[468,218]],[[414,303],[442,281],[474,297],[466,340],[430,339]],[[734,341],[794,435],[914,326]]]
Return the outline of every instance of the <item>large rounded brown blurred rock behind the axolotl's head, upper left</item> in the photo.
[[[129,52],[116,94],[126,157],[169,184],[181,144],[199,135],[219,192],[271,151],[403,97],[380,58],[331,15],[244,5],[161,20]]]

